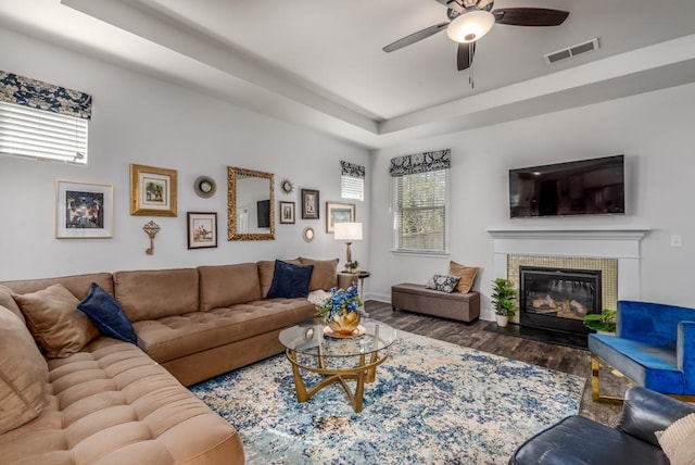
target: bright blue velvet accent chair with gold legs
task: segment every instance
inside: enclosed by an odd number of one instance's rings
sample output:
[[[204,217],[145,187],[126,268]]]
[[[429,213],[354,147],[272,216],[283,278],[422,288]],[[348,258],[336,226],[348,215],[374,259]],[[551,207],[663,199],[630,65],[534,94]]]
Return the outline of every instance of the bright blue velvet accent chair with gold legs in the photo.
[[[589,335],[594,401],[621,401],[601,394],[601,363],[644,388],[695,400],[695,309],[619,301],[616,329],[616,336]]]

